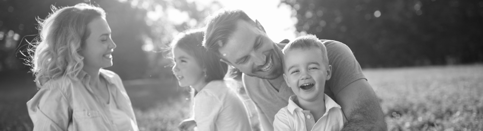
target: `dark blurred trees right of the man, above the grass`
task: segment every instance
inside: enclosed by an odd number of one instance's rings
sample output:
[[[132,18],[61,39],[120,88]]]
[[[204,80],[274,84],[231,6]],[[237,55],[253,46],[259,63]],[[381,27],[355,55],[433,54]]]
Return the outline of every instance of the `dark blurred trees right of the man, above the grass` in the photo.
[[[299,35],[347,44],[363,67],[483,62],[483,0],[282,0]]]

